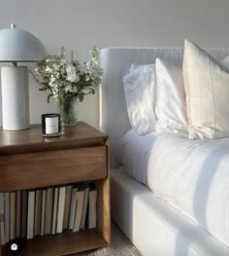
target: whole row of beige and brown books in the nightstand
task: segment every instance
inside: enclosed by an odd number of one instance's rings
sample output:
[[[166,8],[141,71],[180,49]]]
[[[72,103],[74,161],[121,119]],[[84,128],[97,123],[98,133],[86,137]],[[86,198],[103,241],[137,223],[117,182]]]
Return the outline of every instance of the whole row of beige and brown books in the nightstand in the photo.
[[[96,203],[88,184],[0,193],[1,243],[94,229]]]

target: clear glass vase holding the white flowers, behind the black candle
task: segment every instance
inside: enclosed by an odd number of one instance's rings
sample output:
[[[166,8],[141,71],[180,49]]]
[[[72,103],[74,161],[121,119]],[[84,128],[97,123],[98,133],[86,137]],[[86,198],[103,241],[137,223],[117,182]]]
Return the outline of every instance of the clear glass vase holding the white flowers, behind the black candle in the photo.
[[[78,121],[78,98],[65,97],[58,102],[62,127],[73,127]]]

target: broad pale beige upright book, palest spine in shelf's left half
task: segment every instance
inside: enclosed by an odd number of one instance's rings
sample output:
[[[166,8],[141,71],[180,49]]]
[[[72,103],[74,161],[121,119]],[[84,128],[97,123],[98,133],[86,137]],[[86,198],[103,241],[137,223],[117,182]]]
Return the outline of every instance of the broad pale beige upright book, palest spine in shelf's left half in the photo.
[[[28,191],[27,239],[34,238],[35,191]]]

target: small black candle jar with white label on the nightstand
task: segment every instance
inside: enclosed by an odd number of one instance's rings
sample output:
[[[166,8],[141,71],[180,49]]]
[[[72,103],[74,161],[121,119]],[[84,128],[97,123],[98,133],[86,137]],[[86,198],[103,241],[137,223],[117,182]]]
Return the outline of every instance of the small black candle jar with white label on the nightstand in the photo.
[[[57,137],[60,134],[60,114],[50,113],[42,115],[42,135],[44,137]]]

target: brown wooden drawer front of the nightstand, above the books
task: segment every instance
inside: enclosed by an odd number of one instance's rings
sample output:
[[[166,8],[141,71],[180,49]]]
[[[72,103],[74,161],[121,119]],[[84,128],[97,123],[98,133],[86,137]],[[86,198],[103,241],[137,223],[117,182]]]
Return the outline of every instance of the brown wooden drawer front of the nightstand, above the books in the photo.
[[[105,146],[0,157],[0,190],[54,186],[107,176]]]

